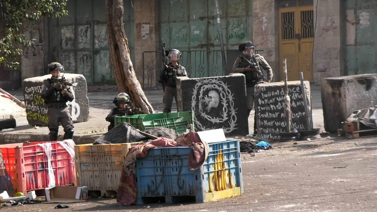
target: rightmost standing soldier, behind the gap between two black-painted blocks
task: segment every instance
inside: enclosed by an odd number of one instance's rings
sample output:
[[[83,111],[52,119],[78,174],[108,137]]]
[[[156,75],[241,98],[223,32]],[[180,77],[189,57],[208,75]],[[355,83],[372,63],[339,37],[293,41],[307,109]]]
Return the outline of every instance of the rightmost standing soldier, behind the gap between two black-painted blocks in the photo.
[[[251,41],[241,43],[238,50],[243,52],[244,55],[237,57],[233,65],[233,72],[245,74],[247,114],[250,115],[254,104],[255,85],[271,82],[273,73],[271,66],[268,65],[264,57],[255,54],[255,45]],[[267,71],[267,78],[261,68]],[[256,115],[254,115],[254,134],[257,134],[256,129]]]

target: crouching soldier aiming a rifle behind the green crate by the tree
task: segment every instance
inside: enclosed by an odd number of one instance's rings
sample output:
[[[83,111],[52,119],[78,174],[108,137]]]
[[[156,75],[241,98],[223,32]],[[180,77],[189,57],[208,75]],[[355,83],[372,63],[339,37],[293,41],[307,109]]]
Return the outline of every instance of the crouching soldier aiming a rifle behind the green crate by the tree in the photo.
[[[115,126],[115,117],[116,116],[124,116],[124,115],[133,115],[132,109],[128,106],[130,103],[130,96],[126,93],[118,94],[113,103],[116,105],[115,108],[111,109],[109,115],[105,118],[106,121],[109,121],[110,124],[107,126],[107,131],[110,131]]]

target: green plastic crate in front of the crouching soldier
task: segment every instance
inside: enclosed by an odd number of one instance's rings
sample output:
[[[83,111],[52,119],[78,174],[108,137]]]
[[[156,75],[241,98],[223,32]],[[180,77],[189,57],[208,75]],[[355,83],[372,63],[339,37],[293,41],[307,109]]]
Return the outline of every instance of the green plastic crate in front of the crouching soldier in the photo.
[[[191,131],[194,131],[194,113],[192,111],[115,117],[115,126],[122,122],[130,123],[134,128],[141,131],[162,127],[174,129],[180,135],[186,132],[189,124],[191,124]]]

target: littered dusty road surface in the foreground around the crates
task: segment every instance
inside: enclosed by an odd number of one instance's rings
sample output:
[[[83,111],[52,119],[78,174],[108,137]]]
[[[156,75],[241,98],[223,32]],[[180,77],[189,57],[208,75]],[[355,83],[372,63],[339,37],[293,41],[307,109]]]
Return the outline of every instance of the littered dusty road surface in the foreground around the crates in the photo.
[[[273,149],[242,153],[244,194],[208,203],[163,201],[120,206],[116,198],[2,207],[2,211],[377,211],[377,139],[328,137],[275,142]]]

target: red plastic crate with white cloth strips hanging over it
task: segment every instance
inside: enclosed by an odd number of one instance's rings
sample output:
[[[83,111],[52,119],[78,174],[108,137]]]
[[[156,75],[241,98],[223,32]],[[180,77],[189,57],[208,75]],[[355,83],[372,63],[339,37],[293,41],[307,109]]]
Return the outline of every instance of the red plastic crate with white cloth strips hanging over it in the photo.
[[[73,157],[61,145],[63,141],[32,142],[0,145],[5,176],[0,178],[0,190],[23,192],[44,189],[54,184],[49,179],[52,171],[56,186],[75,185]],[[51,144],[51,165],[41,145]],[[64,144],[63,144],[64,145]],[[72,151],[74,151],[72,149]]]

